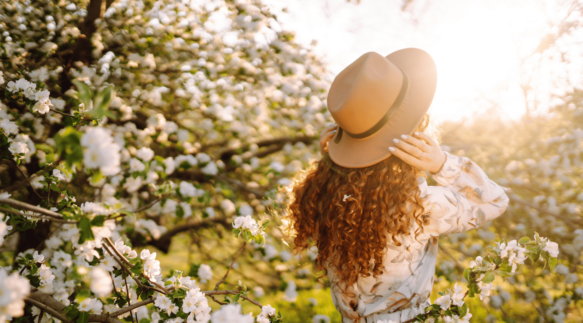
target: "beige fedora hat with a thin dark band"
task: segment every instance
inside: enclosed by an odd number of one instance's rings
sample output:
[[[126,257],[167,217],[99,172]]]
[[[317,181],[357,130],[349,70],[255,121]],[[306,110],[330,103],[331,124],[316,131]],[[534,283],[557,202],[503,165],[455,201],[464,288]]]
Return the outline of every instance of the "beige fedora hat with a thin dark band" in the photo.
[[[328,110],[339,126],[328,143],[332,161],[361,168],[389,157],[388,148],[395,147],[392,140],[419,126],[436,86],[435,62],[422,49],[360,56],[336,76],[328,91]]]

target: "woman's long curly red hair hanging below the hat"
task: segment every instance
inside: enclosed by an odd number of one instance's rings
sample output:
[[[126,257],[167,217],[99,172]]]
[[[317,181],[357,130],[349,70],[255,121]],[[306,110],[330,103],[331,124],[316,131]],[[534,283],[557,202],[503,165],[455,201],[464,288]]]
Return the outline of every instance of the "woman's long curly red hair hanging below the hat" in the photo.
[[[437,138],[426,115],[416,131]],[[298,173],[287,193],[285,219],[297,253],[315,245],[315,269],[332,269],[350,286],[357,276],[382,274],[387,240],[423,232],[418,169],[394,155],[364,168],[344,168],[325,154]],[[349,196],[349,197],[345,197]],[[417,229],[412,232],[412,222]],[[374,260],[374,266],[372,264]],[[344,285],[343,284],[343,285]]]

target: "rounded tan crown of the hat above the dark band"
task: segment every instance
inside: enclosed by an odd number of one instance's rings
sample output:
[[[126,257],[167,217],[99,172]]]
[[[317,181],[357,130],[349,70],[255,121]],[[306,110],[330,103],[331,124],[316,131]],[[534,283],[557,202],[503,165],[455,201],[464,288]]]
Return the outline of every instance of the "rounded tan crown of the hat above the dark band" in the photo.
[[[336,76],[328,92],[328,110],[349,133],[375,126],[399,95],[403,72],[384,56],[368,52]]]

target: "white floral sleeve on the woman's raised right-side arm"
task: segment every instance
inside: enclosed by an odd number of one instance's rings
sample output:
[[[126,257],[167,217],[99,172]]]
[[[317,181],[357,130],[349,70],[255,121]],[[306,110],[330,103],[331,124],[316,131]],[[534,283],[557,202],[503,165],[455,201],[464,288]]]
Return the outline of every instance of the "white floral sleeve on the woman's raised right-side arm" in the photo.
[[[447,155],[441,171],[433,175],[440,186],[419,183],[426,213],[423,234],[439,236],[479,228],[508,207],[504,188],[467,157]]]

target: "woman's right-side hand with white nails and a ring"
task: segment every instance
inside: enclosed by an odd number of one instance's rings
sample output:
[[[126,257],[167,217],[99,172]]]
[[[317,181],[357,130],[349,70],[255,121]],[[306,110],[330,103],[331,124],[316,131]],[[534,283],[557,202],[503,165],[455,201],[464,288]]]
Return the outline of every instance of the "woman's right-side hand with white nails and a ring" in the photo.
[[[445,164],[445,152],[441,151],[439,144],[426,133],[416,132],[415,136],[424,141],[403,134],[401,138],[393,139],[396,148],[389,147],[389,151],[421,171],[433,174],[441,171]]]

